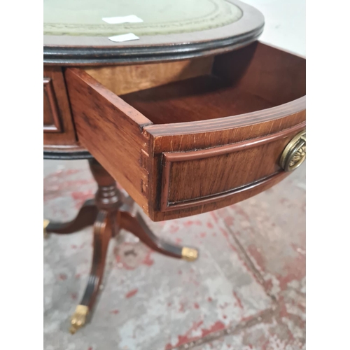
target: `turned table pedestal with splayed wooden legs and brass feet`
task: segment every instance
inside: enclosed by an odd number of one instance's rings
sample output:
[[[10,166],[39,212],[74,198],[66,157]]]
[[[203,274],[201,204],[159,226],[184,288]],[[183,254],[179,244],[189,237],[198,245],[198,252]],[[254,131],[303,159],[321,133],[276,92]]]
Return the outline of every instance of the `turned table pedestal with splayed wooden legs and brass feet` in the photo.
[[[104,273],[109,241],[118,235],[120,229],[132,232],[144,244],[164,255],[189,261],[198,257],[198,251],[195,248],[171,244],[155,236],[140,214],[130,214],[133,204],[131,197],[125,197],[118,190],[116,181],[104,167],[94,159],[89,160],[89,165],[98,184],[94,200],[87,200],[73,221],[68,223],[44,221],[44,235],[48,233],[65,235],[88,225],[94,225],[92,267],[83,299],[71,317],[71,333],[85,324],[87,315],[94,306]]]

